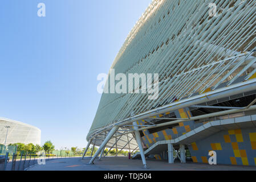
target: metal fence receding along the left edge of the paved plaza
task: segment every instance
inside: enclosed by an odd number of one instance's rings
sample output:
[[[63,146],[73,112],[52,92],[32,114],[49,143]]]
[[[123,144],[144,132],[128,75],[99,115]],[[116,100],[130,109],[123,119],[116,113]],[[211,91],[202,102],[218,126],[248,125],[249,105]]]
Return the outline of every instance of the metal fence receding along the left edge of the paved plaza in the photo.
[[[40,157],[40,158],[39,158]],[[27,168],[38,164],[38,161],[41,159],[45,159],[45,161],[49,160],[55,160],[55,159],[63,159],[63,158],[73,158],[74,156],[66,155],[66,156],[58,156],[58,155],[52,155],[52,156],[36,156],[35,154],[12,154],[9,155],[8,152],[6,152],[5,158],[0,159],[0,171],[24,171]],[[82,155],[77,156],[82,157]]]

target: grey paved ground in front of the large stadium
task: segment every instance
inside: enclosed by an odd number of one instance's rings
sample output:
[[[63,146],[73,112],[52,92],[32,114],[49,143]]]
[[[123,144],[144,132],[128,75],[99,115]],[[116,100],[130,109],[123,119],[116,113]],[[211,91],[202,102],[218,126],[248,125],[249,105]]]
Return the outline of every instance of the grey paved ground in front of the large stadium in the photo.
[[[91,158],[56,159],[46,162],[46,165],[32,166],[28,171],[256,171],[256,167],[229,166],[209,164],[168,164],[162,160],[147,160],[149,169],[142,168],[141,160],[128,160],[127,157],[106,157],[95,164],[88,164]]]

